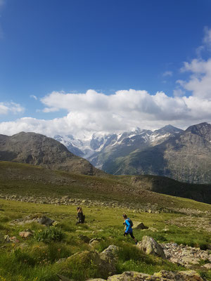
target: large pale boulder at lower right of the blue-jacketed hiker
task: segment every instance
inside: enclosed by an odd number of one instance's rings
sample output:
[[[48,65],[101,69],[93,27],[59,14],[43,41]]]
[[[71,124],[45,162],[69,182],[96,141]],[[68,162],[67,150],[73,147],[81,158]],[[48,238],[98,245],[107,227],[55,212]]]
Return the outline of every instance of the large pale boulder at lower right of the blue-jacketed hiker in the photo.
[[[137,247],[145,254],[153,254],[155,256],[161,256],[162,259],[166,259],[162,247],[152,237],[143,236],[142,241],[137,244]]]

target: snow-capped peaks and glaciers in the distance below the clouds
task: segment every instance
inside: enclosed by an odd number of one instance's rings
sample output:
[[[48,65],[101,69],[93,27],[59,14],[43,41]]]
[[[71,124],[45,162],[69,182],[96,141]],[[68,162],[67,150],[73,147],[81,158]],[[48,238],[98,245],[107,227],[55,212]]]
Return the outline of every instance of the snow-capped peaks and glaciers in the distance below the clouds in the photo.
[[[155,131],[136,129],[124,133],[94,133],[91,138],[78,139],[72,135],[54,136],[56,141],[63,143],[70,152],[84,157],[98,168],[113,157],[127,156],[134,151],[141,151],[148,146],[157,145],[176,136],[182,130],[167,125]]]

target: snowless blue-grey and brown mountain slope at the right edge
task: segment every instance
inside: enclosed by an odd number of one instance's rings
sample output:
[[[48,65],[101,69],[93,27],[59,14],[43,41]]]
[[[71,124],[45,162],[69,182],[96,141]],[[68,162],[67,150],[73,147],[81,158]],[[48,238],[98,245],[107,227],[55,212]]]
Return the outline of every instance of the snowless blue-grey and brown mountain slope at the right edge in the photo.
[[[154,174],[189,183],[211,183],[211,125],[188,127],[169,140],[106,162],[111,174]]]

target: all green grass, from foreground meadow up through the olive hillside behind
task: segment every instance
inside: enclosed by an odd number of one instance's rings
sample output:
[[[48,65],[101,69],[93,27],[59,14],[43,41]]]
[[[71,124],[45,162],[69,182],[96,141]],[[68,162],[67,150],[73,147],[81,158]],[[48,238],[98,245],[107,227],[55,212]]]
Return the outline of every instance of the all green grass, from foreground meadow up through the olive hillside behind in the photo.
[[[130,237],[123,236],[122,214],[126,212],[132,221],[143,222],[151,228],[134,230],[139,241],[143,235],[148,235],[160,243],[176,242],[207,249],[211,244],[210,232],[198,226],[200,223],[203,225],[204,220],[209,221],[211,205],[148,190],[136,190],[129,185],[129,181],[127,176],[97,178],[28,164],[0,162],[1,195],[35,198],[68,195],[80,200],[112,200],[120,203],[120,207],[82,205],[86,220],[83,225],[76,226],[77,211],[73,204],[66,206],[0,199],[0,281],[56,281],[59,280],[57,274],[75,281],[91,277],[107,279],[108,274],[94,263],[94,250],[101,252],[110,244],[120,247],[115,265],[117,273],[127,270],[148,274],[162,269],[186,270],[170,261],[143,254]],[[141,211],[143,205],[151,208],[153,204],[160,208],[158,214]],[[187,212],[184,213],[183,209]],[[35,214],[57,221],[56,226],[47,228],[35,222],[25,225],[10,223],[16,218]],[[188,223],[182,225],[181,222],[186,220]],[[20,237],[20,231],[27,229],[33,230],[34,235],[27,239]],[[4,235],[15,236],[19,241],[6,242]],[[100,239],[94,247],[89,245],[92,238]],[[73,256],[72,259],[60,260],[84,251],[87,251],[87,257]],[[196,270],[211,280],[208,270],[201,271],[197,266]]]

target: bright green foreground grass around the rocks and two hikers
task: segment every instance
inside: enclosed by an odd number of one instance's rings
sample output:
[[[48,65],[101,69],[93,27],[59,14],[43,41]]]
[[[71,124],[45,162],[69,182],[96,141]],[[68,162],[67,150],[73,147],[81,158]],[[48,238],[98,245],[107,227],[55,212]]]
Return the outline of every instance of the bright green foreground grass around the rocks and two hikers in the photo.
[[[81,226],[75,226],[75,206],[52,206],[0,200],[0,207],[4,209],[4,211],[0,211],[0,280],[5,278],[7,281],[56,281],[58,280],[56,273],[79,281],[87,280],[89,277],[108,277],[107,273],[100,270],[96,263],[91,263],[88,258],[84,258],[84,261],[82,261],[77,260],[76,256],[73,261],[67,260],[56,263],[59,259],[68,258],[72,254],[90,251],[89,243],[85,242],[84,237],[88,237],[89,240],[94,237],[101,238],[101,242],[94,247],[98,251],[103,251],[110,244],[120,247],[119,259],[116,265],[117,273],[122,273],[125,270],[136,270],[148,274],[153,274],[162,269],[184,270],[184,268],[178,267],[169,261],[163,261],[154,256],[146,256],[134,247],[134,241],[130,237],[123,237],[123,211],[127,211],[133,221],[143,221],[146,226],[158,230],[158,232],[134,230],[134,235],[138,240],[141,240],[143,235],[149,235],[159,242],[182,242],[183,244],[197,247],[211,243],[210,233],[205,231],[196,233],[191,228],[174,225],[168,225],[169,230],[167,231],[163,230],[167,221],[181,217],[180,214],[136,214],[119,208],[87,208],[84,206],[86,223]],[[58,221],[58,224],[53,228],[63,233],[61,241],[37,241],[34,237],[24,240],[22,237],[18,237],[19,231],[25,230],[25,228],[30,228],[35,233],[39,232],[39,230],[41,230],[39,233],[49,231],[50,228],[45,228],[38,223],[29,223],[24,226],[11,226],[9,223],[15,218],[23,218],[29,214],[36,213],[45,214]],[[15,235],[20,242],[4,242],[3,235],[7,234],[10,236]],[[22,246],[23,244],[26,246]],[[87,262],[87,259],[89,262]],[[94,260],[94,257],[92,260]],[[207,280],[211,280],[209,279],[209,272],[206,271],[201,274],[206,275]]]

